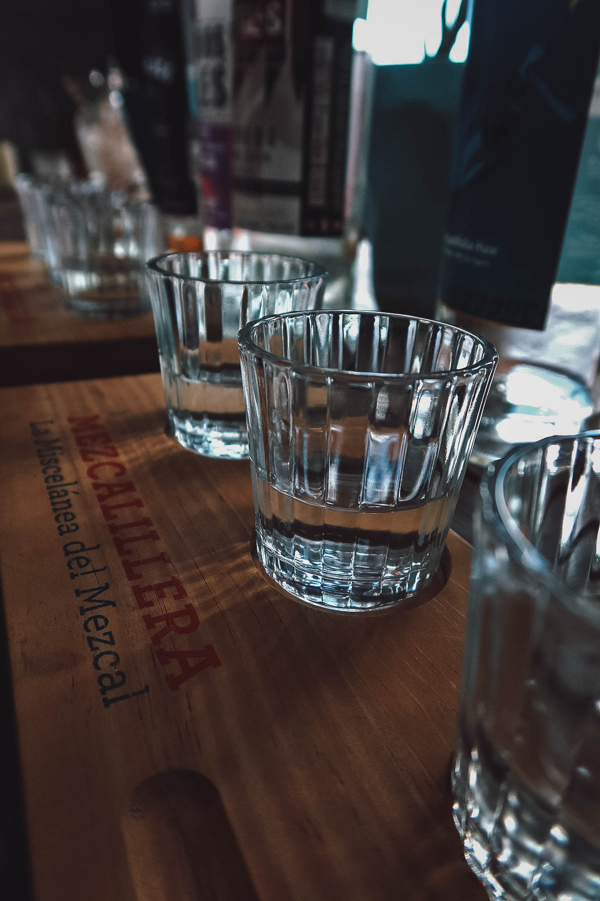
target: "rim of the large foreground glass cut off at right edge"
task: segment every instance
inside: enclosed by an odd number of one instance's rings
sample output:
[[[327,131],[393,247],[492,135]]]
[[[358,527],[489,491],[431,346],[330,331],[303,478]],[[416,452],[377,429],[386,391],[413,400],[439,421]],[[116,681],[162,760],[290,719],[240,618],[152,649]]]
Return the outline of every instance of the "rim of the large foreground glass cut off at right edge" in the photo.
[[[592,601],[592,596],[587,596],[569,587],[564,579],[557,576],[550,560],[543,556],[533,544],[524,536],[513,514],[506,504],[504,493],[506,475],[515,462],[524,459],[532,451],[543,451],[551,444],[573,445],[575,441],[600,439],[600,429],[590,429],[586,432],[573,434],[551,435],[540,441],[532,441],[526,444],[518,444],[508,451],[499,460],[488,465],[479,485],[481,500],[481,515],[489,530],[506,547],[511,560],[522,566],[529,573],[539,578],[542,584],[551,590],[552,594],[563,600],[569,600],[571,604],[581,605]],[[594,604],[595,609],[596,605]],[[596,614],[600,622],[600,610]]]

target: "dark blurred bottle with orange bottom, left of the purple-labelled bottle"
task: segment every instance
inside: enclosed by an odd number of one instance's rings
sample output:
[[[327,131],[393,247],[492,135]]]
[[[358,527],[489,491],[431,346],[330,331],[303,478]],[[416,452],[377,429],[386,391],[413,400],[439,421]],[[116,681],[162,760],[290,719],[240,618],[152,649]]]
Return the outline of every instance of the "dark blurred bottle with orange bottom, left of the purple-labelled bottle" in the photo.
[[[112,0],[115,53],[127,122],[168,250],[201,250],[202,224],[190,159],[191,135],[180,0]]]

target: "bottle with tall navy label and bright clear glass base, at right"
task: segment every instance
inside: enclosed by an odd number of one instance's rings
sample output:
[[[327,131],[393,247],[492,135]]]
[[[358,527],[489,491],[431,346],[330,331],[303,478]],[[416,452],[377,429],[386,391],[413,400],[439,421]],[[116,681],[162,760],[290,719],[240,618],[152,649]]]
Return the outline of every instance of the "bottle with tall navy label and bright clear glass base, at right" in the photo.
[[[597,316],[577,332],[581,304],[556,274],[599,51],[594,0],[475,2],[437,316],[500,357],[476,465],[592,412]]]

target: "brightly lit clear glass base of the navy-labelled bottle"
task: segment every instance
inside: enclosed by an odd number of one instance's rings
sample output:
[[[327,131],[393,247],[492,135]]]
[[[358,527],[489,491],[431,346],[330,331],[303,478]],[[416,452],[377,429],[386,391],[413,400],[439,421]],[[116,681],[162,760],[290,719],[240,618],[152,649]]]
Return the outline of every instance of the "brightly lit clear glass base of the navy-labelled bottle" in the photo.
[[[574,434],[592,409],[587,388],[576,378],[517,363],[494,377],[469,462],[486,467],[515,444]]]

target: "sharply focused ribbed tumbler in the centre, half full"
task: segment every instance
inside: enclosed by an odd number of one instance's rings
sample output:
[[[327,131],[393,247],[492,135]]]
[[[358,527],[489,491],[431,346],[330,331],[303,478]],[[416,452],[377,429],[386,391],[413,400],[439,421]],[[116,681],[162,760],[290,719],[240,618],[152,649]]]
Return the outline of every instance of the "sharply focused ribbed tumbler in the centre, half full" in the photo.
[[[309,604],[402,604],[440,564],[493,347],[409,316],[270,316],[239,333],[268,576]]]

